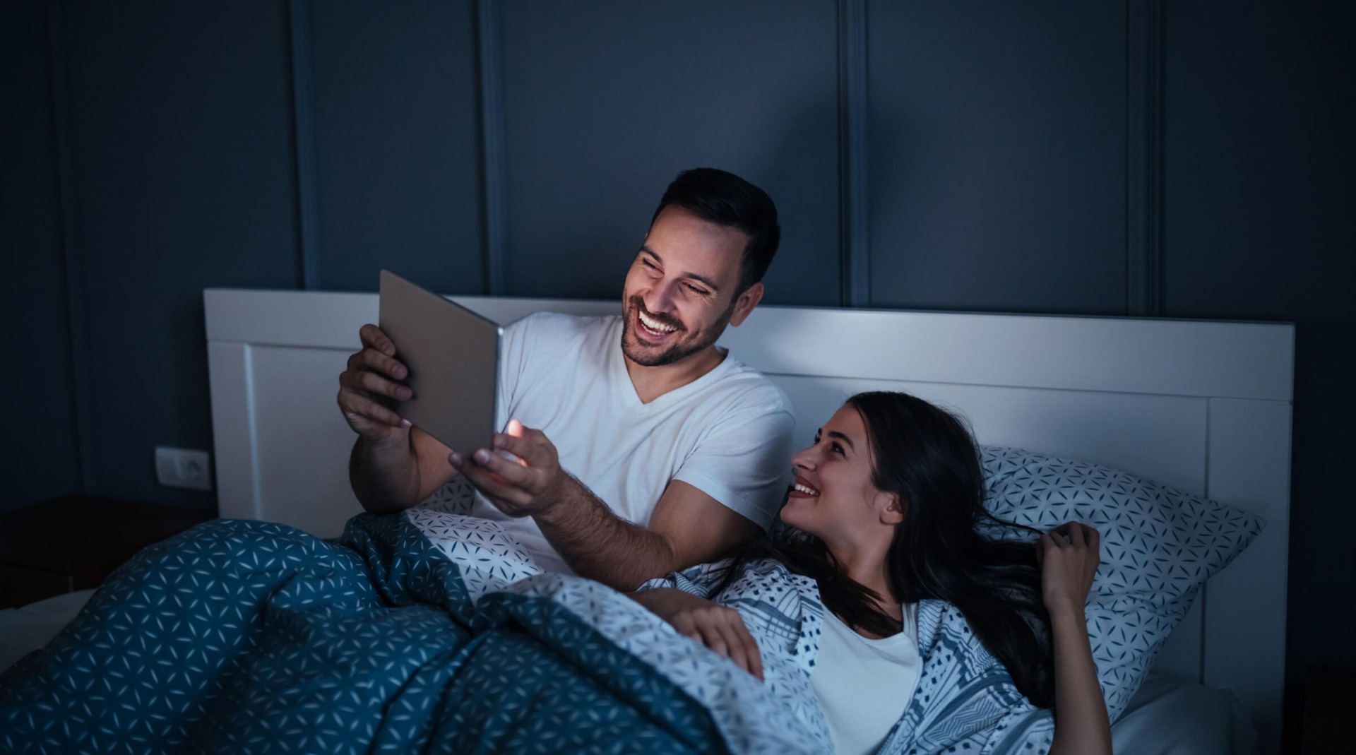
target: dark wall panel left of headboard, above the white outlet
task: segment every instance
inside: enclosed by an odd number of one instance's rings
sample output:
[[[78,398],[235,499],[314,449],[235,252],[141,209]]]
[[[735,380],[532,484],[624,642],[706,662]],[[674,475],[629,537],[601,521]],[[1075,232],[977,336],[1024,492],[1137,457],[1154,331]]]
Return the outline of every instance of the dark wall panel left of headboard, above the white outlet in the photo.
[[[99,489],[151,502],[156,445],[212,442],[202,289],[292,286],[281,3],[65,5]]]

